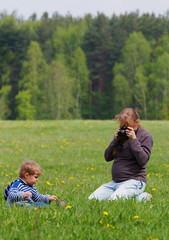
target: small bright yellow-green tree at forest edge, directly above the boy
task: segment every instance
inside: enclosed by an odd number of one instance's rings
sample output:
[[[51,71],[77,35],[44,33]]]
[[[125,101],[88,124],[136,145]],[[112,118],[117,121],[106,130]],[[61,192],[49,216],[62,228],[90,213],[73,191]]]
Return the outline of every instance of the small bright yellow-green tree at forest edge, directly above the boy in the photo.
[[[23,90],[16,96],[18,120],[32,120],[35,115],[35,108],[31,105],[31,94],[29,90]]]

